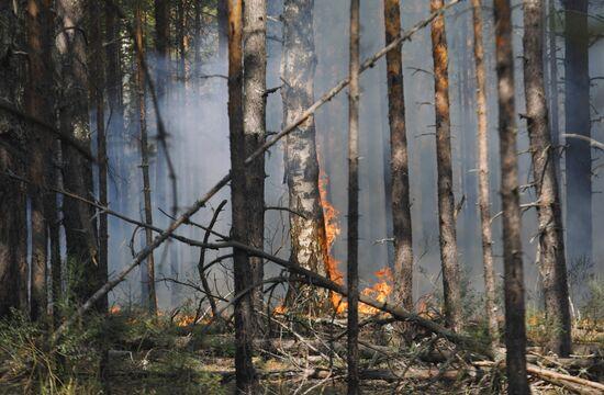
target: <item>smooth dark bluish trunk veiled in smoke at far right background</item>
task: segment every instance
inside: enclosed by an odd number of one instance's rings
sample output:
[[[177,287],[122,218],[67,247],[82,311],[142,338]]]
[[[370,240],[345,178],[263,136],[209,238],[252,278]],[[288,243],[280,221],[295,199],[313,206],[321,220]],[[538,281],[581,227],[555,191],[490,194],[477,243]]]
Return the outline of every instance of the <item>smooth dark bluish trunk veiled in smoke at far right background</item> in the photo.
[[[564,0],[566,133],[591,136],[589,0]],[[592,259],[592,154],[588,142],[569,139],[566,155],[567,257]]]

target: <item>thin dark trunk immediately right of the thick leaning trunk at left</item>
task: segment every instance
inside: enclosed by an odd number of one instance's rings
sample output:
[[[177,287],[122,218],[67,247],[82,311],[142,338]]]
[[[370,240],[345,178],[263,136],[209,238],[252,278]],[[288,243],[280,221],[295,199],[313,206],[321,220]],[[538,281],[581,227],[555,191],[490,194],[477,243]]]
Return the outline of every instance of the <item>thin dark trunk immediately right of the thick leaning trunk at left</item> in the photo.
[[[101,18],[102,10],[98,1],[90,1],[89,23],[90,23],[90,50],[89,50],[89,70],[91,76],[90,95],[96,106],[94,120],[97,121],[97,160],[99,163],[99,203],[103,206],[108,205],[107,196],[107,177],[108,177],[108,157],[107,157],[107,137],[104,127],[104,101],[103,90],[105,86],[104,79],[104,57],[102,46],[102,29]],[[99,281],[99,286],[104,284],[108,279],[108,248],[109,229],[108,214],[99,213],[99,262],[97,267],[98,274],[96,278]],[[107,296],[99,303],[99,311],[105,312],[108,308]]]

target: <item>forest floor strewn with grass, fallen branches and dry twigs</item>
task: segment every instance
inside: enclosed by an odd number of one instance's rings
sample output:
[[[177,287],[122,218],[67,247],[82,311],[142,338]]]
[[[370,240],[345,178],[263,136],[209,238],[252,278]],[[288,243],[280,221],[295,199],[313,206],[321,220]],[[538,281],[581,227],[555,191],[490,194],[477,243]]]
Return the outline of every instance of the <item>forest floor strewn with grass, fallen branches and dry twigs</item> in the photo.
[[[191,313],[176,311],[149,317],[135,308],[113,308],[109,319],[88,317],[54,353],[45,342],[45,330],[15,316],[0,323],[0,393],[233,393],[232,325],[228,319],[208,325],[208,318],[193,325],[195,316]],[[436,315],[430,318],[439,319]],[[261,385],[258,393],[345,393],[345,317],[286,313],[272,314],[267,323],[265,336],[255,343],[254,362]],[[483,361],[432,334],[410,331],[409,326],[383,315],[366,315],[361,324],[360,366],[366,394],[497,394],[505,388],[501,364]],[[541,314],[529,312],[527,329],[529,363],[580,380],[604,381],[603,319],[575,320],[575,354],[569,359],[544,354],[541,345],[548,327]],[[470,324],[468,330],[474,338],[484,337],[480,324]],[[406,340],[401,337],[403,332]],[[600,393],[556,377],[532,375],[530,381],[536,394]]]

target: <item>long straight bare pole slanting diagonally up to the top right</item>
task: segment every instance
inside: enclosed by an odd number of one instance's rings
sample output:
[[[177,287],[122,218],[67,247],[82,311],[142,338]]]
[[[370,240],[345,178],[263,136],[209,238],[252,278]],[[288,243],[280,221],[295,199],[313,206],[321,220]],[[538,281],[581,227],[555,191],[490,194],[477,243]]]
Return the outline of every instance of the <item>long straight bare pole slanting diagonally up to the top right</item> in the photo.
[[[383,57],[385,54],[388,54],[390,50],[398,48],[403,44],[404,41],[410,40],[415,33],[417,33],[421,29],[427,26],[434,19],[436,19],[438,15],[440,15],[445,10],[449,9],[450,7],[459,3],[460,0],[451,0],[447,5],[440,8],[438,11],[433,12],[428,18],[421,21],[420,23],[415,24],[411,30],[406,31],[404,35],[396,37],[392,43],[387,45],[384,48],[378,50],[374,53],[371,57],[369,57],[361,66],[359,72],[363,72],[367,69],[373,67],[376,63]],[[314,113],[325,103],[331,101],[337,93],[339,93],[349,83],[349,78],[346,78],[342,80],[339,83],[337,83],[334,88],[328,90],[326,93],[324,93],[317,101],[314,102],[309,109],[306,109],[304,112],[302,112],[292,123],[283,127],[283,129],[278,133],[273,138],[266,140],[254,154],[251,154],[246,160],[245,166],[249,166],[253,161],[255,161],[258,157],[262,156],[265,151],[267,151],[270,147],[272,147],[277,142],[279,142],[281,138],[286,137],[290,133],[294,132],[298,126],[306,122],[311,116],[314,115]],[[228,181],[231,181],[231,171],[228,171],[227,174],[225,174],[222,179],[216,182],[214,187],[212,187],[200,200],[198,200],[191,207],[184,211],[178,217],[176,221],[174,221],[170,226],[166,230],[164,230],[161,234],[156,236],[156,238],[153,240],[152,244],[147,245],[144,249],[142,249],[132,260],[130,264],[127,264],[124,269],[122,269],[121,272],[119,272],[115,278],[108,281],[103,286],[101,286],[92,296],[88,298],[67,320],[65,320],[53,334],[51,337],[51,342],[56,342],[64,334],[65,331],[74,324],[76,323],[79,317],[81,317],[86,312],[88,312],[94,304],[103,297],[105,294],[108,294],[111,290],[113,290],[118,284],[120,284],[126,275],[134,270],[138,264],[141,264],[159,245],[161,245],[164,241],[166,241],[170,235],[182,224],[186,224],[189,222],[191,216],[195,214],[201,207],[203,207],[210,199],[212,199],[221,189],[223,189]],[[264,252],[264,251],[262,251]],[[312,272],[311,272],[312,273]],[[325,279],[327,280],[327,279]],[[327,280],[328,281],[328,280]],[[333,283],[335,284],[335,283]],[[335,284],[337,285],[337,284]],[[336,291],[337,292],[337,291]],[[363,302],[365,303],[365,302]],[[377,302],[376,302],[377,303]],[[434,324],[434,323],[432,323]],[[434,324],[436,325],[436,324]],[[438,326],[439,327],[439,326]],[[452,332],[451,332],[452,334]]]

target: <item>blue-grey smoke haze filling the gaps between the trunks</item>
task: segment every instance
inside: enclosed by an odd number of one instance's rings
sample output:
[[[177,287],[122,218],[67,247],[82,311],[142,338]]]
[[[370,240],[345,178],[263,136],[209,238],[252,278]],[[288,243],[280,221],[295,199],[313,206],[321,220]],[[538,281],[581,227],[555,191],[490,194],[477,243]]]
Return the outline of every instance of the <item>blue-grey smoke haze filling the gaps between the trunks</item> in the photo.
[[[268,2],[268,67],[267,88],[279,87],[281,61],[281,22],[279,14],[282,1]],[[519,113],[524,112],[524,87],[522,64],[523,21],[519,1],[515,1],[513,13],[514,55],[516,57],[516,105]],[[488,67],[488,114],[490,134],[490,179],[492,208],[494,215],[500,212],[500,170],[499,145],[496,134],[496,77],[494,70],[494,26],[492,23],[492,2],[485,1],[485,63]],[[168,136],[168,154],[175,163],[178,181],[178,210],[182,212],[197,199],[206,192],[230,169],[228,117],[226,113],[227,63],[225,48],[217,33],[217,21],[214,9],[203,16],[202,34],[188,42],[197,45],[200,61],[188,56],[184,63],[184,74],[176,78],[178,61],[170,61],[170,86],[166,97],[159,100],[159,112],[166,123]],[[316,47],[317,67],[315,75],[315,98],[332,88],[348,72],[348,11],[347,0],[315,0],[314,7],[314,43]],[[604,20],[599,16],[604,12],[604,1],[591,1],[590,30],[594,37],[604,33]],[[403,29],[410,29],[429,14],[429,2],[411,0],[402,2]],[[451,103],[451,145],[454,150],[454,178],[456,202],[461,202],[457,219],[460,263],[462,264],[466,287],[482,290],[482,258],[480,240],[480,219],[477,207],[477,116],[476,116],[476,80],[472,52],[472,16],[470,4],[461,2],[446,13],[447,41],[449,45],[449,78]],[[382,1],[367,0],[361,2],[361,57],[368,57],[384,46]],[[150,35],[150,32],[147,32]],[[123,41],[127,43],[127,40]],[[563,37],[557,40],[560,131],[563,133]],[[124,44],[123,53],[126,54]],[[192,53],[192,50],[189,50]],[[551,54],[548,54],[551,56]],[[133,87],[133,59],[123,59],[126,65],[124,112],[126,128],[119,135],[109,136],[110,153],[110,205],[113,210],[135,218],[143,218],[143,188],[141,176],[139,140],[137,114],[135,111],[135,92]],[[147,54],[147,63],[152,72],[157,76],[168,70],[157,69],[157,58]],[[604,64],[604,42],[594,40],[590,47],[590,75],[592,77],[592,137],[604,140],[604,127],[601,114],[604,109],[604,80],[602,66]],[[414,296],[438,293],[440,279],[440,261],[438,250],[438,213],[436,195],[436,150],[435,150],[435,116],[434,116],[434,77],[429,26],[420,31],[411,42],[403,46],[404,89],[406,105],[406,133],[410,148],[410,182],[412,194],[412,219],[415,253]],[[187,78],[182,78],[186,76]],[[547,77],[547,75],[546,75]],[[370,284],[376,280],[373,273],[388,267],[392,253],[392,244],[388,241],[391,235],[391,224],[388,219],[389,201],[387,185],[389,183],[389,125],[388,98],[385,79],[385,59],[380,59],[376,67],[361,75],[360,99],[360,240],[359,270],[362,281]],[[149,109],[149,125],[155,125],[156,111],[153,103]],[[340,234],[336,239],[333,253],[342,261],[340,270],[346,262],[346,215],[347,212],[347,97],[340,93],[324,105],[316,114],[316,131],[320,162],[323,173],[328,179],[326,184],[328,201],[340,213],[338,224]],[[108,120],[111,123],[111,116]],[[527,184],[532,180],[530,157],[528,154],[528,137],[526,123],[518,117],[518,158],[519,183]],[[267,102],[267,131],[280,131],[282,126],[282,105],[279,91],[270,94]],[[156,136],[154,126],[150,134]],[[563,139],[561,139],[563,143]],[[152,144],[152,196],[154,207],[154,224],[166,227],[170,219],[172,195],[166,155],[156,139]],[[593,262],[592,267],[574,268],[569,261],[569,271],[577,274],[570,276],[573,297],[580,297],[588,275],[597,275],[604,268],[604,245],[599,242],[604,234],[604,211],[600,202],[604,184],[601,180],[601,154],[593,151]],[[563,179],[563,160],[562,160]],[[276,145],[267,154],[265,199],[268,206],[287,206],[287,184],[283,183],[282,145]],[[561,188],[562,192],[563,183]],[[463,196],[463,198],[462,198]],[[564,196],[564,193],[562,193]],[[206,225],[219,203],[230,199],[228,189],[224,189],[211,203],[192,218],[194,223]],[[523,189],[522,203],[536,200],[530,189]],[[228,235],[231,225],[231,207],[227,204],[220,215],[214,229]],[[266,214],[266,249],[281,257],[289,257],[288,213],[268,211]],[[135,232],[136,230],[136,232]],[[133,250],[139,250],[144,245],[144,233],[133,226],[110,218],[110,275],[119,271],[132,258]],[[496,271],[502,274],[501,218],[493,219],[494,255]],[[178,234],[202,239],[204,232],[195,226],[181,227]],[[536,260],[537,221],[535,210],[528,210],[523,215],[523,250],[525,262],[525,282],[527,300],[534,305],[539,301],[538,269]],[[160,308],[170,308],[188,300],[199,297],[193,287],[177,284],[197,284],[199,249],[176,241],[165,244],[156,250],[156,279],[158,303]],[[208,251],[206,262],[225,251]],[[230,260],[221,267],[215,266],[210,271],[212,286],[220,290],[223,296],[232,290],[228,268]],[[279,269],[267,263],[267,273]],[[119,304],[137,303],[141,298],[142,273],[134,271],[128,281],[121,284],[113,293],[112,301]],[[167,280],[171,279],[171,280]],[[501,276],[500,276],[501,279]]]

